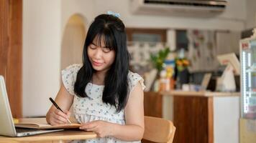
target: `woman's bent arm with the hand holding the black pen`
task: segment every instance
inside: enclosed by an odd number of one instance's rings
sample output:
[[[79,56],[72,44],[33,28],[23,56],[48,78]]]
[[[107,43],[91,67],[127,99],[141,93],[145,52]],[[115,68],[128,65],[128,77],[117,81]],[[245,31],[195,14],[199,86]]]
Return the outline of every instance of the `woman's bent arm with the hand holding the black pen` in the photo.
[[[68,111],[73,103],[73,98],[74,96],[68,93],[64,85],[61,84],[60,91],[55,98],[55,102],[64,113],[52,105],[46,114],[47,123],[52,125],[68,123],[67,119],[70,116],[70,112]]]

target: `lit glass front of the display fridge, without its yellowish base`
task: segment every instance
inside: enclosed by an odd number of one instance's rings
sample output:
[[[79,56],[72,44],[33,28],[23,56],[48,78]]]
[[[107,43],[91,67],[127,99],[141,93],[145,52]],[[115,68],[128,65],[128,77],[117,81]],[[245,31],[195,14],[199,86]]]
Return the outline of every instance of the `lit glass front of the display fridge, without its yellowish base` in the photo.
[[[241,116],[256,119],[256,38],[240,41]]]

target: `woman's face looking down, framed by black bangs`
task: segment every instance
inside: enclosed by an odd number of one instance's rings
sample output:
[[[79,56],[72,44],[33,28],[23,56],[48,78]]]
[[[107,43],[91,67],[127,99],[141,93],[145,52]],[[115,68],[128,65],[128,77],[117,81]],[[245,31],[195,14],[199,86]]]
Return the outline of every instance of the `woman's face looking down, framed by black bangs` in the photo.
[[[88,46],[88,59],[91,61],[93,69],[96,71],[108,71],[111,64],[114,62],[115,51],[106,48],[104,36],[101,36],[101,46],[99,45],[98,36],[93,39],[93,42]]]

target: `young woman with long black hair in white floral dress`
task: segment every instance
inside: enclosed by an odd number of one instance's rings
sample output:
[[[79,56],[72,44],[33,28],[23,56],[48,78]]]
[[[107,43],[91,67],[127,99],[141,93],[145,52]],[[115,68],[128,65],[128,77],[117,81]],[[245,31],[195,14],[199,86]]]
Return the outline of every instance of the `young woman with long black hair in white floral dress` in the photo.
[[[88,29],[83,65],[62,71],[63,84],[52,106],[49,124],[66,124],[73,114],[85,131],[99,138],[84,142],[140,142],[144,133],[143,79],[129,71],[123,22],[113,14],[97,16]]]

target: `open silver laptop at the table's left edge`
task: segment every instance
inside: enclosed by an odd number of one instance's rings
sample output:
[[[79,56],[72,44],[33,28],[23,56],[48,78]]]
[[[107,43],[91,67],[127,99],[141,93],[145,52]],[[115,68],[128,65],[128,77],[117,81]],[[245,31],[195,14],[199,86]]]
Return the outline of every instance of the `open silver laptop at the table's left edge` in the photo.
[[[47,132],[57,132],[63,129],[24,129],[15,128],[12,119],[12,112],[7,97],[4,77],[0,75],[0,135],[9,137],[24,137],[33,134],[42,134]]]

